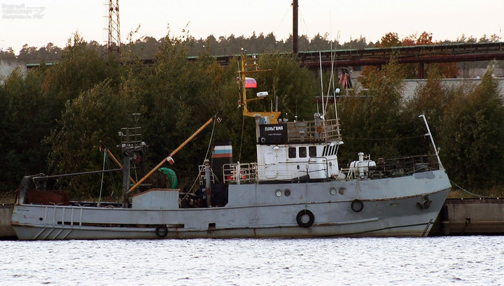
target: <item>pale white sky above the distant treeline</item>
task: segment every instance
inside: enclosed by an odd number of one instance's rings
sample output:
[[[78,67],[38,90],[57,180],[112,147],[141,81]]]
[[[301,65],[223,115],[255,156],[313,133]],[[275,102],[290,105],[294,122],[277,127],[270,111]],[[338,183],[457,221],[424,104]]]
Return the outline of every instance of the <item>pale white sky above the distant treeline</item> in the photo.
[[[64,48],[78,31],[85,41],[104,43],[106,0],[1,0],[0,49],[22,45],[40,48],[52,42]],[[141,25],[134,40],[183,34],[188,24],[195,38],[249,37],[255,31],[277,39],[292,33],[291,0],[120,0],[121,41]],[[43,8],[43,9],[42,9]],[[435,41],[465,34],[480,38],[504,29],[504,0],[299,0],[299,34],[328,33],[339,43],[351,38],[376,42],[389,31],[400,38],[428,31]],[[15,15],[15,16],[13,16]],[[20,16],[20,17],[18,17]],[[17,18],[13,18],[17,17]]]

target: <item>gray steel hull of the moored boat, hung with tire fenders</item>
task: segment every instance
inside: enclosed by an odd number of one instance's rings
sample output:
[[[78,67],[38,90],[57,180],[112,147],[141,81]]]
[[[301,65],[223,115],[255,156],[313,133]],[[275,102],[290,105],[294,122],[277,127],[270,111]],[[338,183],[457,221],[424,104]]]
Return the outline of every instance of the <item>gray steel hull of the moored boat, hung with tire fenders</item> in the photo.
[[[17,204],[11,225],[22,240],[427,236],[449,188],[444,171],[378,180],[230,185],[223,207]],[[307,210],[312,217],[303,215]]]

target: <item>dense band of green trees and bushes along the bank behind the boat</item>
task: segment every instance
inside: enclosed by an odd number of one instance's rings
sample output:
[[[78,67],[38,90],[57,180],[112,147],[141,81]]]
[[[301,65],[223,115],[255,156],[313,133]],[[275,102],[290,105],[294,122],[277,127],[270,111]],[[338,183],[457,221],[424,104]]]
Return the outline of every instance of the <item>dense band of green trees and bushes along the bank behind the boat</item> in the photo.
[[[130,41],[121,47],[119,59],[114,54],[106,55],[103,46],[96,42],[88,43],[74,34],[66,47],[56,52],[59,57],[56,65],[29,69],[26,74],[18,69],[3,78],[0,198],[13,195],[22,177],[30,174],[102,169],[99,141],[111,146],[111,152],[118,157],[117,132],[121,127],[134,126],[132,113],[142,114],[139,125],[143,141],[150,146],[151,164],[166,157],[220,109],[225,110],[223,122],[216,125],[213,138],[231,139],[235,161],[255,162],[253,120],[244,120],[241,108],[237,108],[240,97],[236,67],[218,65],[212,57],[214,44],[198,50],[197,61],[187,61],[191,53],[188,39],[187,34],[168,34],[156,41],[155,48],[146,45],[151,41],[148,37]],[[365,43],[365,38],[356,41]],[[429,42],[432,35],[425,32],[405,39],[388,33],[372,45]],[[241,44],[253,52],[254,48],[246,46],[248,42]],[[292,55],[281,55],[281,50],[258,46],[262,50],[255,52],[269,51],[258,57],[258,64],[261,69],[272,71],[256,78],[258,90],[267,90],[269,95],[266,100],[254,101],[251,107],[269,110],[277,99],[279,110],[286,111],[281,117],[290,121],[295,116],[297,120],[312,120],[312,110],[317,109],[316,99],[321,94],[319,73],[301,67]],[[13,52],[11,55],[22,59],[31,55],[29,49],[24,48],[25,52],[18,56]],[[56,48],[48,44],[44,49]],[[314,49],[315,45],[311,50]],[[141,61],[144,57],[141,52],[146,50],[153,52],[152,65]],[[235,53],[232,48],[227,51]],[[0,58],[5,58],[3,55]],[[337,104],[345,142],[339,150],[342,166],[353,161],[358,152],[373,158],[432,154],[428,138],[423,136],[426,131],[418,119],[418,115],[425,114],[449,178],[480,196],[503,197],[502,91],[491,67],[477,85],[443,85],[440,79],[453,76],[454,66],[429,64],[426,83],[411,99],[402,96],[402,79],[414,73],[416,65],[400,65],[391,59],[390,64],[379,70],[365,67],[360,78],[365,94],[354,87]],[[323,73],[322,77],[324,93],[329,93],[331,75]],[[335,87],[339,87],[337,83]],[[327,108],[326,117],[333,116],[334,108]],[[180,185],[192,185],[210,138],[210,132],[203,132],[174,158]],[[51,183],[53,187],[69,190],[71,199],[86,199],[98,197],[100,181],[101,176],[81,176]],[[111,194],[120,194],[120,182],[120,174],[105,176],[104,196],[114,198],[116,195]]]

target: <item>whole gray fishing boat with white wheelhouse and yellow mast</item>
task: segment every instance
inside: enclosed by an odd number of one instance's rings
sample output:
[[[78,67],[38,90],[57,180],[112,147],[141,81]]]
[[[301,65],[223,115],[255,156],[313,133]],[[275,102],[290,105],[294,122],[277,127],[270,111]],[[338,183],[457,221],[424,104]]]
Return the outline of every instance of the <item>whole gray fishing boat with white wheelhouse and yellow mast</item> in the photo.
[[[133,158],[145,158],[137,127],[121,131],[125,158],[122,203],[69,201],[63,190],[46,190],[60,176],[22,179],[11,225],[20,239],[253,238],[313,236],[427,236],[450,184],[436,156],[371,160],[358,154],[339,167],[342,145],[337,118],[287,122],[280,112],[248,110],[247,89],[255,85],[255,59],[241,56],[239,83],[244,115],[254,117],[257,162],[233,163],[228,143],[214,147],[215,166],[199,167],[200,188],[137,188],[185,143],[138,182],[130,178]],[[256,99],[265,96],[259,92]],[[212,117],[193,136],[211,122]],[[425,120],[425,117],[423,117]],[[426,123],[426,122],[425,122]],[[428,129],[428,126],[426,124]],[[430,131],[428,132],[430,136]],[[434,141],[430,136],[432,144]],[[186,142],[188,142],[186,141]],[[105,149],[105,148],[104,148]],[[435,150],[435,146],[434,146]],[[96,171],[101,173],[104,171]],[[90,173],[90,172],[85,172]],[[92,172],[91,172],[92,173]],[[69,175],[80,175],[67,174]],[[167,171],[171,178],[171,174]],[[32,187],[34,185],[35,187]]]

